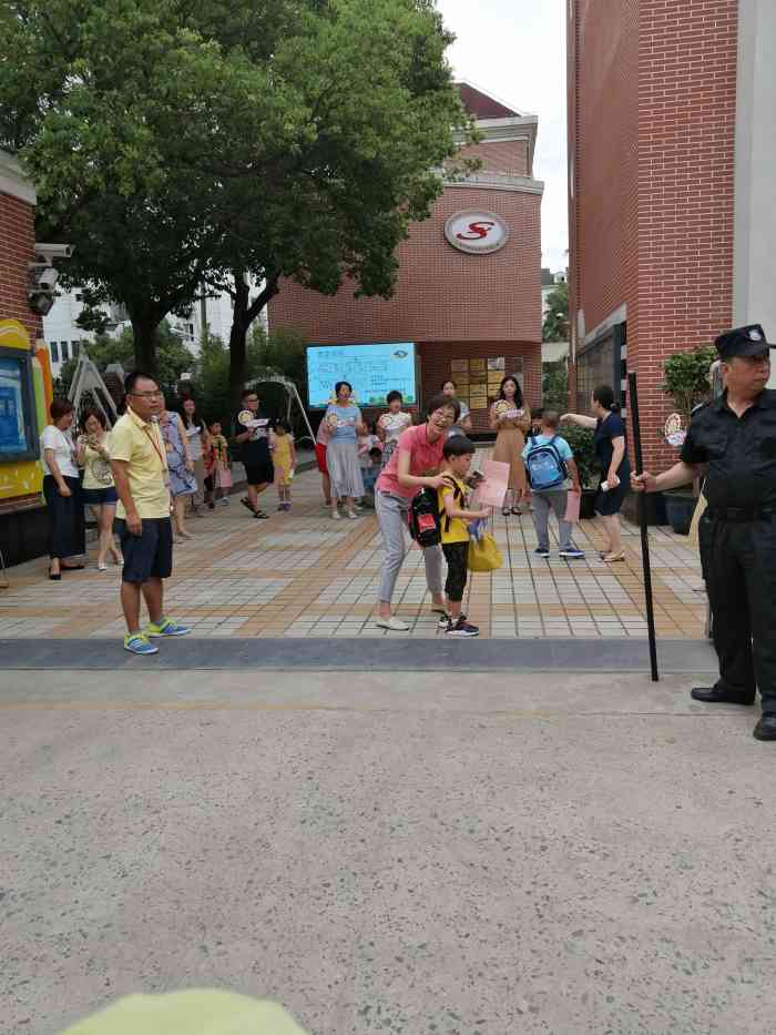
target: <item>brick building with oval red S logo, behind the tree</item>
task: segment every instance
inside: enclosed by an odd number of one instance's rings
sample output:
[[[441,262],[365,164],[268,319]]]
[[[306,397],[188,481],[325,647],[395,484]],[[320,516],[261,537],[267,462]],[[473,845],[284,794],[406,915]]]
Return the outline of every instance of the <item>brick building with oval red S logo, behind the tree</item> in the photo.
[[[474,427],[483,430],[504,371],[518,374],[531,404],[541,397],[543,184],[533,179],[535,115],[469,84],[460,89],[482,133],[464,153],[479,158],[482,169],[464,182],[446,183],[430,219],[411,227],[397,253],[395,296],[356,298],[345,285],[329,298],[286,281],[270,303],[269,323],[325,345],[415,342],[420,399],[452,376]],[[471,223],[484,225],[472,232]],[[472,248],[480,242],[484,247],[470,251],[468,237]]]

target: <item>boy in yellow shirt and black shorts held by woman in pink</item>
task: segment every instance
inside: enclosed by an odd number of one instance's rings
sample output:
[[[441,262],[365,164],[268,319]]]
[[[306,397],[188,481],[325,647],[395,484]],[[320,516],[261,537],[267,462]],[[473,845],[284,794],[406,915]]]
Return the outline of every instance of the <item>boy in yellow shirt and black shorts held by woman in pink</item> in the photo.
[[[448,613],[440,620],[439,628],[445,629],[447,636],[470,637],[479,636],[477,626],[466,620],[461,615],[461,601],[466,589],[469,557],[469,527],[468,521],[487,518],[490,511],[464,510],[467,487],[463,479],[469,473],[471,458],[474,455],[474,444],[464,435],[448,438],[442,450],[442,467],[440,474],[445,476],[445,484],[438,490],[439,515],[441,518],[442,552],[447,561],[447,593]]]

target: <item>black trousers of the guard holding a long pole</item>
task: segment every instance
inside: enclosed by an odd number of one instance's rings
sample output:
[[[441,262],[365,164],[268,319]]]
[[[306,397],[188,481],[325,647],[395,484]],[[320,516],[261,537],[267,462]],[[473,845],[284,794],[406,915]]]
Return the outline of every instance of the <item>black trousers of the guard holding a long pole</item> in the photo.
[[[698,540],[721,684],[776,713],[776,521],[704,515]]]

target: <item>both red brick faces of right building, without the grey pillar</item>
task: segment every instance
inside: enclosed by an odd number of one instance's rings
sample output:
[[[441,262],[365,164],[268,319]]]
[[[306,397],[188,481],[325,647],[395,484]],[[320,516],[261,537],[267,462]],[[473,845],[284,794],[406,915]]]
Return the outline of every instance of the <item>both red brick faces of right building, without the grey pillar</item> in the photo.
[[[627,303],[645,460],[673,353],[732,318],[737,0],[573,0],[569,24],[572,318]]]

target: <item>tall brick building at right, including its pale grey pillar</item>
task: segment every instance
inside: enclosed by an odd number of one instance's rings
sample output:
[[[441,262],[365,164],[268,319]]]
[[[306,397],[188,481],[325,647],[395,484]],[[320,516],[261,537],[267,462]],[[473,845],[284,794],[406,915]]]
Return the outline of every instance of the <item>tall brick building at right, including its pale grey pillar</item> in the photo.
[[[576,408],[635,371],[645,463],[673,463],[673,353],[776,335],[772,0],[569,0],[570,319]],[[575,383],[575,384],[574,384]]]

